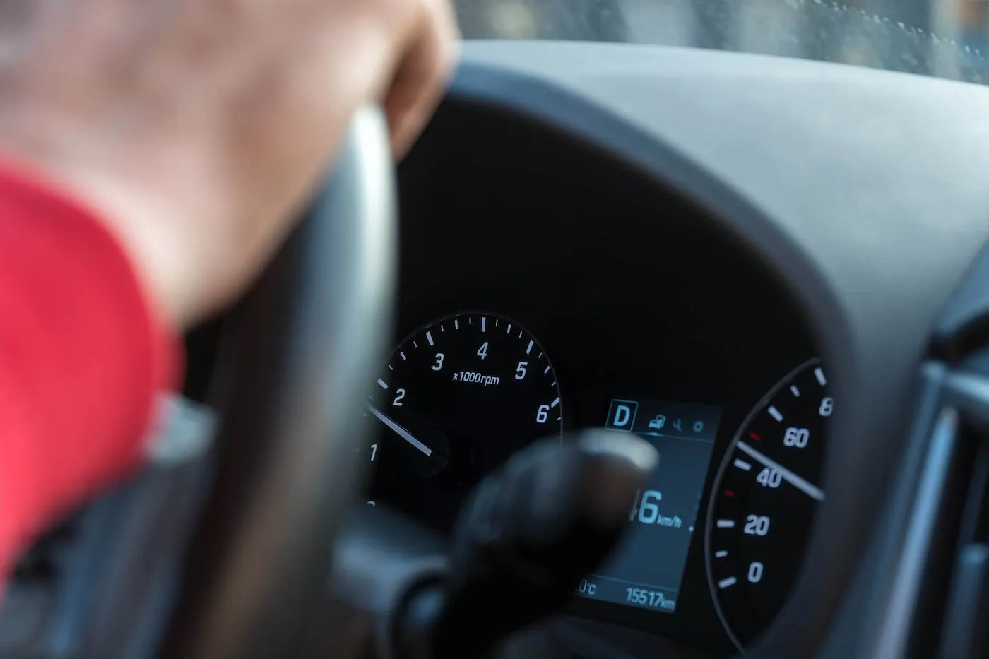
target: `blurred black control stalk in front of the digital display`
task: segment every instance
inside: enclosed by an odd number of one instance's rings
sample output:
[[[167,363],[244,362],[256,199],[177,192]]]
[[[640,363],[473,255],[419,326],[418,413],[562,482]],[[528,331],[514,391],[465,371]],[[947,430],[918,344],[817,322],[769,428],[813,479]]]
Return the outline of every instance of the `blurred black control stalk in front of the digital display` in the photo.
[[[447,581],[408,609],[411,654],[478,656],[556,611],[614,548],[658,459],[635,435],[607,430],[512,457],[465,505]]]

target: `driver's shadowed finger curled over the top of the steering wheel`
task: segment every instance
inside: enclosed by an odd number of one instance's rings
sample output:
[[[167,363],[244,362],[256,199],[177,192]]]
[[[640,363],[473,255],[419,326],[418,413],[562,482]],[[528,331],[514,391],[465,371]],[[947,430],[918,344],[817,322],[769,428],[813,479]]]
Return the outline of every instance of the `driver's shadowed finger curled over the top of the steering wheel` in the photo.
[[[448,0],[425,0],[385,99],[392,150],[401,158],[432,116],[446,88],[459,34]]]

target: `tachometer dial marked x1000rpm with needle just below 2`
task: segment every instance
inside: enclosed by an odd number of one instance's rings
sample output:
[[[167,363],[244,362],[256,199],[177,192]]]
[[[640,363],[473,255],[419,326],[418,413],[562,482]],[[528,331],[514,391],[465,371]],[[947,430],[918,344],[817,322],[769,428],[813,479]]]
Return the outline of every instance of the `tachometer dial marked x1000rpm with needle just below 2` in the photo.
[[[417,329],[372,390],[368,412],[380,433],[368,450],[369,503],[441,532],[488,472],[561,433],[553,366],[536,338],[503,316],[460,314]]]

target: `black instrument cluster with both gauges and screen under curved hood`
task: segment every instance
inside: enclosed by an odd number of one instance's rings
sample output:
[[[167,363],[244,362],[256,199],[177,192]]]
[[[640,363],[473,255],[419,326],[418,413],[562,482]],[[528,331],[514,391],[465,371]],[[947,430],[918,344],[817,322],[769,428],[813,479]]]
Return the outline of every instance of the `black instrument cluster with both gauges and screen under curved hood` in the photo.
[[[448,103],[400,182],[401,339],[372,379],[369,504],[447,535],[518,449],[634,431],[661,466],[570,623],[744,648],[823,498],[834,401],[799,301],[682,195],[519,117]]]

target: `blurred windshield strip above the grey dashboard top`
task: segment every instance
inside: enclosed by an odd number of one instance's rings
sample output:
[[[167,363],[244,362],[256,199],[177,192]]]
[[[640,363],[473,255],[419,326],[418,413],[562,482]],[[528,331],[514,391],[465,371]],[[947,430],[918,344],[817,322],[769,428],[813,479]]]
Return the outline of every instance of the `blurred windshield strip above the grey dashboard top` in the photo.
[[[989,79],[989,0],[456,0],[466,39],[662,44]]]

